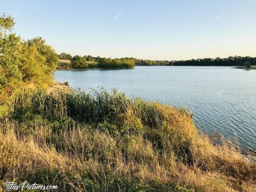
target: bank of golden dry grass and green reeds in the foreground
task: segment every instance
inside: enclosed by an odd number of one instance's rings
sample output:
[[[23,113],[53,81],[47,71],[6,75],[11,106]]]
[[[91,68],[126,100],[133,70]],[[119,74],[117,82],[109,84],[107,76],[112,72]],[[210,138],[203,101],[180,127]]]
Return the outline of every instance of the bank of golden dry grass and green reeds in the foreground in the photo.
[[[59,191],[255,191],[256,162],[192,115],[113,90],[24,90],[0,119],[0,186]]]

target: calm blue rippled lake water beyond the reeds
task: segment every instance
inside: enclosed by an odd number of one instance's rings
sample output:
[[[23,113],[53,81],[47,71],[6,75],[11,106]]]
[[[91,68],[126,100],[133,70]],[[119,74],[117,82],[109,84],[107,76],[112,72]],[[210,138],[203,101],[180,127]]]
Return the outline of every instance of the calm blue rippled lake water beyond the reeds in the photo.
[[[199,129],[238,137],[256,150],[256,70],[230,67],[136,67],[132,70],[57,71],[55,81],[77,89],[116,88],[128,96],[186,106]]]

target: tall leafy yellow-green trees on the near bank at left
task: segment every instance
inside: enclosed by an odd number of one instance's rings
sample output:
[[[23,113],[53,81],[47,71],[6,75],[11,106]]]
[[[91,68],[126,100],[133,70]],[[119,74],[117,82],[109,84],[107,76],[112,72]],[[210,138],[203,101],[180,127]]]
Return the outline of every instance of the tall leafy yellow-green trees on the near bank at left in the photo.
[[[58,62],[58,55],[44,39],[22,41],[12,32],[14,24],[14,18],[0,16],[0,95],[24,83],[51,84]]]

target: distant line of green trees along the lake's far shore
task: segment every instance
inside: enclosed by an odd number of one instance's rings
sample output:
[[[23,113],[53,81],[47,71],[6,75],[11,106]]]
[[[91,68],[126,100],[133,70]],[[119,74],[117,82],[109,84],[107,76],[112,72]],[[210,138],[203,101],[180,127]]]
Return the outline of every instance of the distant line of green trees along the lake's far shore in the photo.
[[[76,56],[75,56],[76,57]],[[72,59],[70,54],[61,53],[59,55],[60,59]],[[203,59],[190,59],[190,60],[180,60],[180,61],[167,61],[167,60],[143,60],[137,58],[121,58],[121,59],[111,59],[111,58],[101,58],[93,57],[91,55],[85,55],[83,57],[84,61],[97,62],[100,63],[101,68],[130,68],[134,65],[175,65],[175,66],[250,66],[256,65],[256,58],[246,56],[229,56],[228,58],[203,58]],[[125,62],[123,62],[125,61]],[[122,64],[120,64],[120,62]],[[98,66],[98,67],[99,67]],[[111,66],[111,67],[110,67]],[[124,67],[126,66],[126,67]],[[89,66],[90,68],[90,66]]]

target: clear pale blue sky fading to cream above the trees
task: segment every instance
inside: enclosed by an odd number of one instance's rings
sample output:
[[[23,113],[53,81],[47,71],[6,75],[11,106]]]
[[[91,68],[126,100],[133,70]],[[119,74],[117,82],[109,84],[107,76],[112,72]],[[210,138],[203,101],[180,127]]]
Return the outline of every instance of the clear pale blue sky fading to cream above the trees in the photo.
[[[256,0],[0,0],[56,52],[154,60],[256,56]]]

